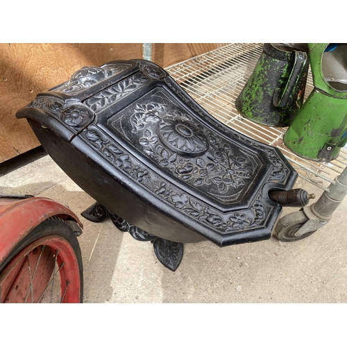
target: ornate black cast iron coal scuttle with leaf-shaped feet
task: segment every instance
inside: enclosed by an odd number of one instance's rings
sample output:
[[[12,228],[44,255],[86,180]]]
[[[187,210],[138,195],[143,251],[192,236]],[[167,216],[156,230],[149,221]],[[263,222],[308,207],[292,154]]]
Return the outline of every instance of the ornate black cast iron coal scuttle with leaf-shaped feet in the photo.
[[[203,110],[146,60],[85,67],[42,92],[28,119],[51,158],[96,203],[83,216],[111,217],[176,270],[183,243],[218,246],[271,237],[296,171],[278,149]]]

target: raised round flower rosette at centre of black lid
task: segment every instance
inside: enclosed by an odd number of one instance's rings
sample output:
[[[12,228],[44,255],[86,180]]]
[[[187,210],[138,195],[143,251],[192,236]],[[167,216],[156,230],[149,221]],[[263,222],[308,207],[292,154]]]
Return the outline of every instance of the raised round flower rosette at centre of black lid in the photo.
[[[160,137],[171,150],[179,154],[198,155],[208,150],[205,135],[183,119],[162,119]]]

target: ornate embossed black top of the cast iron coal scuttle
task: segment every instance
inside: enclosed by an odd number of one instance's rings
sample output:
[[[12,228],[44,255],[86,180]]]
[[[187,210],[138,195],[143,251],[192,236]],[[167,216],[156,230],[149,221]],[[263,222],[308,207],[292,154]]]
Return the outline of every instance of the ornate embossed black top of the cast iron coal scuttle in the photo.
[[[214,119],[146,60],[85,67],[17,117],[80,137],[115,180],[219,246],[270,237],[281,207],[268,192],[297,177],[278,149]]]

